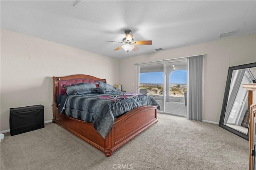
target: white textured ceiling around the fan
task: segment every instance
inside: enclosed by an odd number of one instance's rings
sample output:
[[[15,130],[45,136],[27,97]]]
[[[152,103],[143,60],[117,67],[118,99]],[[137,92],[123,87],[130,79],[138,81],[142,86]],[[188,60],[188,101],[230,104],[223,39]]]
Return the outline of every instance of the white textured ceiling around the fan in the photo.
[[[1,28],[122,59],[256,32],[256,1],[2,1]],[[138,51],[114,51],[131,29]]]

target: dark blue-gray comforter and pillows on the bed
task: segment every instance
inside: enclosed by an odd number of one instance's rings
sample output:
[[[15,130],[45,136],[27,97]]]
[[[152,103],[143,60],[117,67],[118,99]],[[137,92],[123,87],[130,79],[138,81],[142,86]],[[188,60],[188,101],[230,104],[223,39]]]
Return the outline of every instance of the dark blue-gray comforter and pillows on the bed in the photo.
[[[114,124],[114,117],[139,106],[158,106],[146,94],[117,92],[111,85],[98,82],[99,87],[86,83],[65,87],[67,94],[58,97],[58,112],[92,122],[104,139]]]

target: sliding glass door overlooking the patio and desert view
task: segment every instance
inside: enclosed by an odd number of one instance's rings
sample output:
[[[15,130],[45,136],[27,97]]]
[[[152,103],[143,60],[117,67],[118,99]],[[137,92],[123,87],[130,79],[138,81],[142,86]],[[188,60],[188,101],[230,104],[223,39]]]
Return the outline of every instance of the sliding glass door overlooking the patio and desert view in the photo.
[[[138,82],[161,112],[186,117],[187,60],[138,66]]]

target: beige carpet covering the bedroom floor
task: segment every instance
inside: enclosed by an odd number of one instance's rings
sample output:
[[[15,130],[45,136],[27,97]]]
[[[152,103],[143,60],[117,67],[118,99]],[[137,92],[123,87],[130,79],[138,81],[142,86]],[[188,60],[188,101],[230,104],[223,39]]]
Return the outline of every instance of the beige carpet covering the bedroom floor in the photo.
[[[55,123],[0,143],[1,170],[246,170],[249,142],[218,127],[158,113],[158,122],[106,157]]]

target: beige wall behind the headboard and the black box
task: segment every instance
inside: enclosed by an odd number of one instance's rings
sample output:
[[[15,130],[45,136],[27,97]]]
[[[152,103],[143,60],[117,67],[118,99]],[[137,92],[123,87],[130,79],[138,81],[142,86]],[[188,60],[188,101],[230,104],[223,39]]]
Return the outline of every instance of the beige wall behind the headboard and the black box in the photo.
[[[118,60],[1,29],[1,131],[10,129],[9,109],[44,105],[52,119],[52,76],[89,74],[119,83]]]

